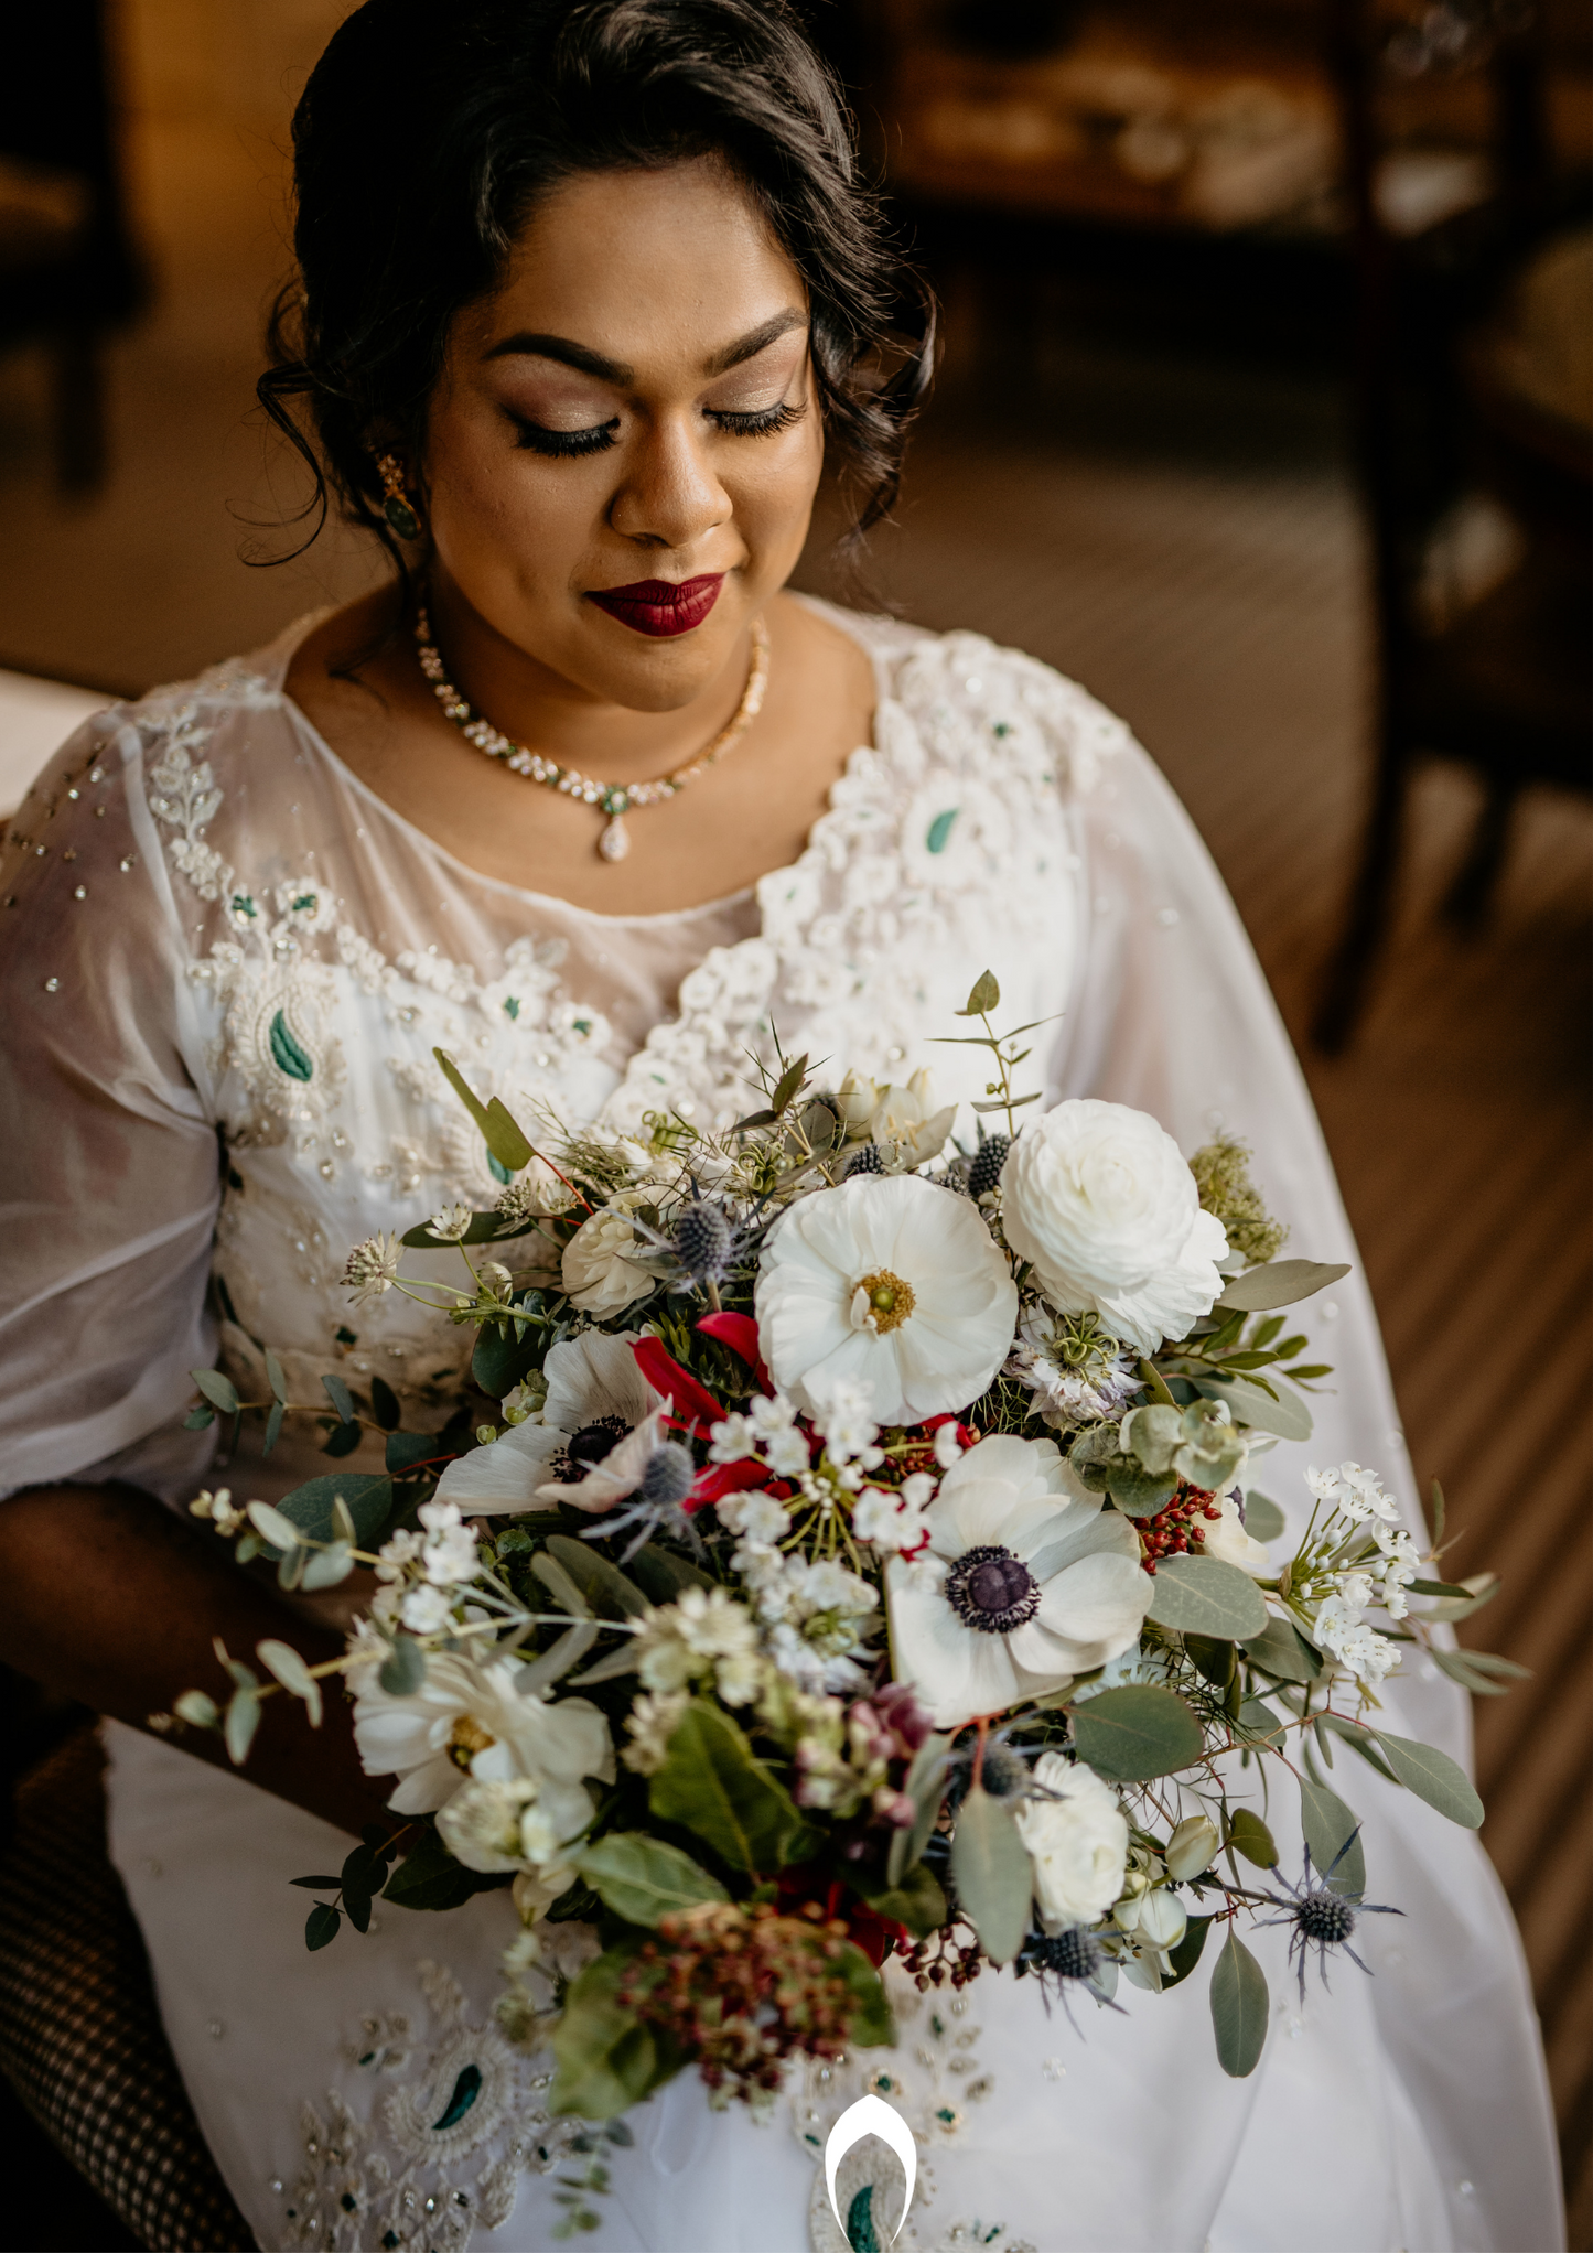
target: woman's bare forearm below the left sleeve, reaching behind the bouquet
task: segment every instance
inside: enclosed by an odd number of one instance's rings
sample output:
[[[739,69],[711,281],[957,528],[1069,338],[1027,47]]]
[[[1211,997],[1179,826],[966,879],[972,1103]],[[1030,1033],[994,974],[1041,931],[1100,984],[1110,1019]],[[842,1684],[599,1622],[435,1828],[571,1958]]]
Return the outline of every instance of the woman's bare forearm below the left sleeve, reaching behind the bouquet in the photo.
[[[149,1715],[169,1712],[183,1690],[225,1703],[232,1685],[214,1636],[246,1663],[266,1636],[311,1665],[342,1649],[241,1573],[214,1534],[133,1487],[25,1487],[0,1503],[0,1642],[18,1672],[149,1728]],[[383,1780],[361,1769],[340,1683],[329,1678],[327,1692],[318,1730],[297,1699],[266,1699],[243,1775],[354,1836],[365,1823],[397,1827]],[[212,1730],[185,1728],[167,1742],[230,1766]]]

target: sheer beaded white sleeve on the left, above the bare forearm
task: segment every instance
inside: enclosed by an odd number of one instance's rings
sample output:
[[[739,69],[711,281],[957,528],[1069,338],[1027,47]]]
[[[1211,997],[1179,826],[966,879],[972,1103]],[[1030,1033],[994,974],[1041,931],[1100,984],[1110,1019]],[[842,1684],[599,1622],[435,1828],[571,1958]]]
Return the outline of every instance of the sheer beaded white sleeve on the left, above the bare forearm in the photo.
[[[219,1145],[187,958],[119,707],[86,721],[0,861],[0,1491],[122,1476],[167,1496],[207,1311]]]

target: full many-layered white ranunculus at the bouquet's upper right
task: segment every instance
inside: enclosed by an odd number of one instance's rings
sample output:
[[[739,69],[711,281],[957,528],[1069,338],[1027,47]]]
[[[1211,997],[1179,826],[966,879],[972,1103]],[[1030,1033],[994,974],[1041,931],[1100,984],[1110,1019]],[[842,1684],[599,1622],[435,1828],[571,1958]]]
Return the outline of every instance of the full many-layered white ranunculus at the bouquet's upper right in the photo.
[[[1142,1354],[1183,1338],[1223,1289],[1223,1223],[1145,1111],[1066,1102],[1030,1120],[1000,1174],[1007,1244],[1061,1313],[1100,1313]]]

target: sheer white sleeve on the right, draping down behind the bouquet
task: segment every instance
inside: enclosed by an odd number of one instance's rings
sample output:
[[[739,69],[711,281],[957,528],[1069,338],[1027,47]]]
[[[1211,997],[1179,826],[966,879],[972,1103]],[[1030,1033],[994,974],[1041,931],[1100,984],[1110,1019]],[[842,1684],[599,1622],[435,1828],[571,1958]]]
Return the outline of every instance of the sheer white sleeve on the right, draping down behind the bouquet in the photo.
[[[1097,712],[1077,689],[1084,714]],[[1064,728],[1068,725],[1064,714]],[[1088,716],[1077,721],[1088,730]],[[1284,1257],[1347,1262],[1343,1282],[1305,1300],[1298,1327],[1332,1377],[1311,1395],[1309,1442],[1280,1442],[1257,1485],[1302,1530],[1307,1462],[1365,1462],[1424,1523],[1383,1341],[1305,1077],[1255,949],[1183,804],[1127,737],[1075,795],[1079,955],[1048,1102],[1095,1095],[1149,1111],[1185,1156],[1219,1136],[1253,1151]],[[1291,1313],[1291,1320],[1293,1320]],[[1469,1760],[1465,1694],[1429,1667],[1388,1685],[1410,1733]]]

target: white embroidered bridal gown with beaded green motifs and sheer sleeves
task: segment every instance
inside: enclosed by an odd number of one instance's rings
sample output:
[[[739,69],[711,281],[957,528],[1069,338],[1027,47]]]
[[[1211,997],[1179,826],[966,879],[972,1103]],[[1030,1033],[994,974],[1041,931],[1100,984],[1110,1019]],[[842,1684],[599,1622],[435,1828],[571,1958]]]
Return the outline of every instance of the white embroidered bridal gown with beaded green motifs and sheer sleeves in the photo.
[[[406,1422],[439,1419],[466,1334],[399,1295],[356,1313],[338,1286],[356,1239],[496,1194],[433,1045],[511,1108],[545,1099],[617,1129],[671,1104],[728,1122],[748,1102],[744,1052],[768,1054],[773,1027],[836,1079],[928,1063],[967,1097],[976,1052],[928,1043],[989,967],[1007,1023],[1054,1021],[1030,1066],[1048,1099],[1138,1104],[1185,1151],[1217,1129],[1246,1138],[1291,1250],[1354,1257],[1239,919],[1127,730],[976,635],[836,615],[876,662],[872,746],[800,861],[683,915],[590,915],[451,858],[284,696],[293,635],[72,737],[0,881],[7,1487],[115,1471],[183,1507],[214,1437],[180,1431],[187,1372],[221,1354],[259,1397],[259,1345],[297,1399],[329,1368],[381,1372]],[[1359,1273],[1309,1327],[1338,1392],[1309,1451],[1271,1458],[1269,1491],[1298,1516],[1307,1453],[1356,1458],[1417,1523]],[[324,1462],[284,1446],[230,1480],[270,1496],[311,1469]],[[1386,1703],[1397,1730],[1467,1757],[1465,1699],[1431,1663]],[[568,2129],[545,2120],[545,2066],[493,2030],[507,1895],[442,1917],[379,1908],[370,1938],[345,1929],[309,1956],[288,1879],[336,1870],[347,1841],[167,1744],[117,1726],[108,1744],[113,1854],[259,2244],[550,2246]],[[1084,2001],[1070,2019],[1005,1974],[951,2003],[892,1980],[899,2050],[802,2077],[773,2120],[712,2113],[692,2075],[635,2111],[581,2242],[838,2253],[818,2154],[883,2071],[922,2152],[901,2248],[1559,2246],[1498,1881],[1474,1836],[1345,1764],[1370,1897],[1404,1915],[1361,1926],[1372,1978],[1341,1960],[1305,2005],[1287,1933],[1246,1933],[1273,1994],[1251,2080],[1212,2055],[1214,1951],[1174,1994],[1122,1989],[1122,2014]],[[1271,1814],[1298,1874],[1278,1784]],[[874,2210],[886,2244],[895,2197]]]

